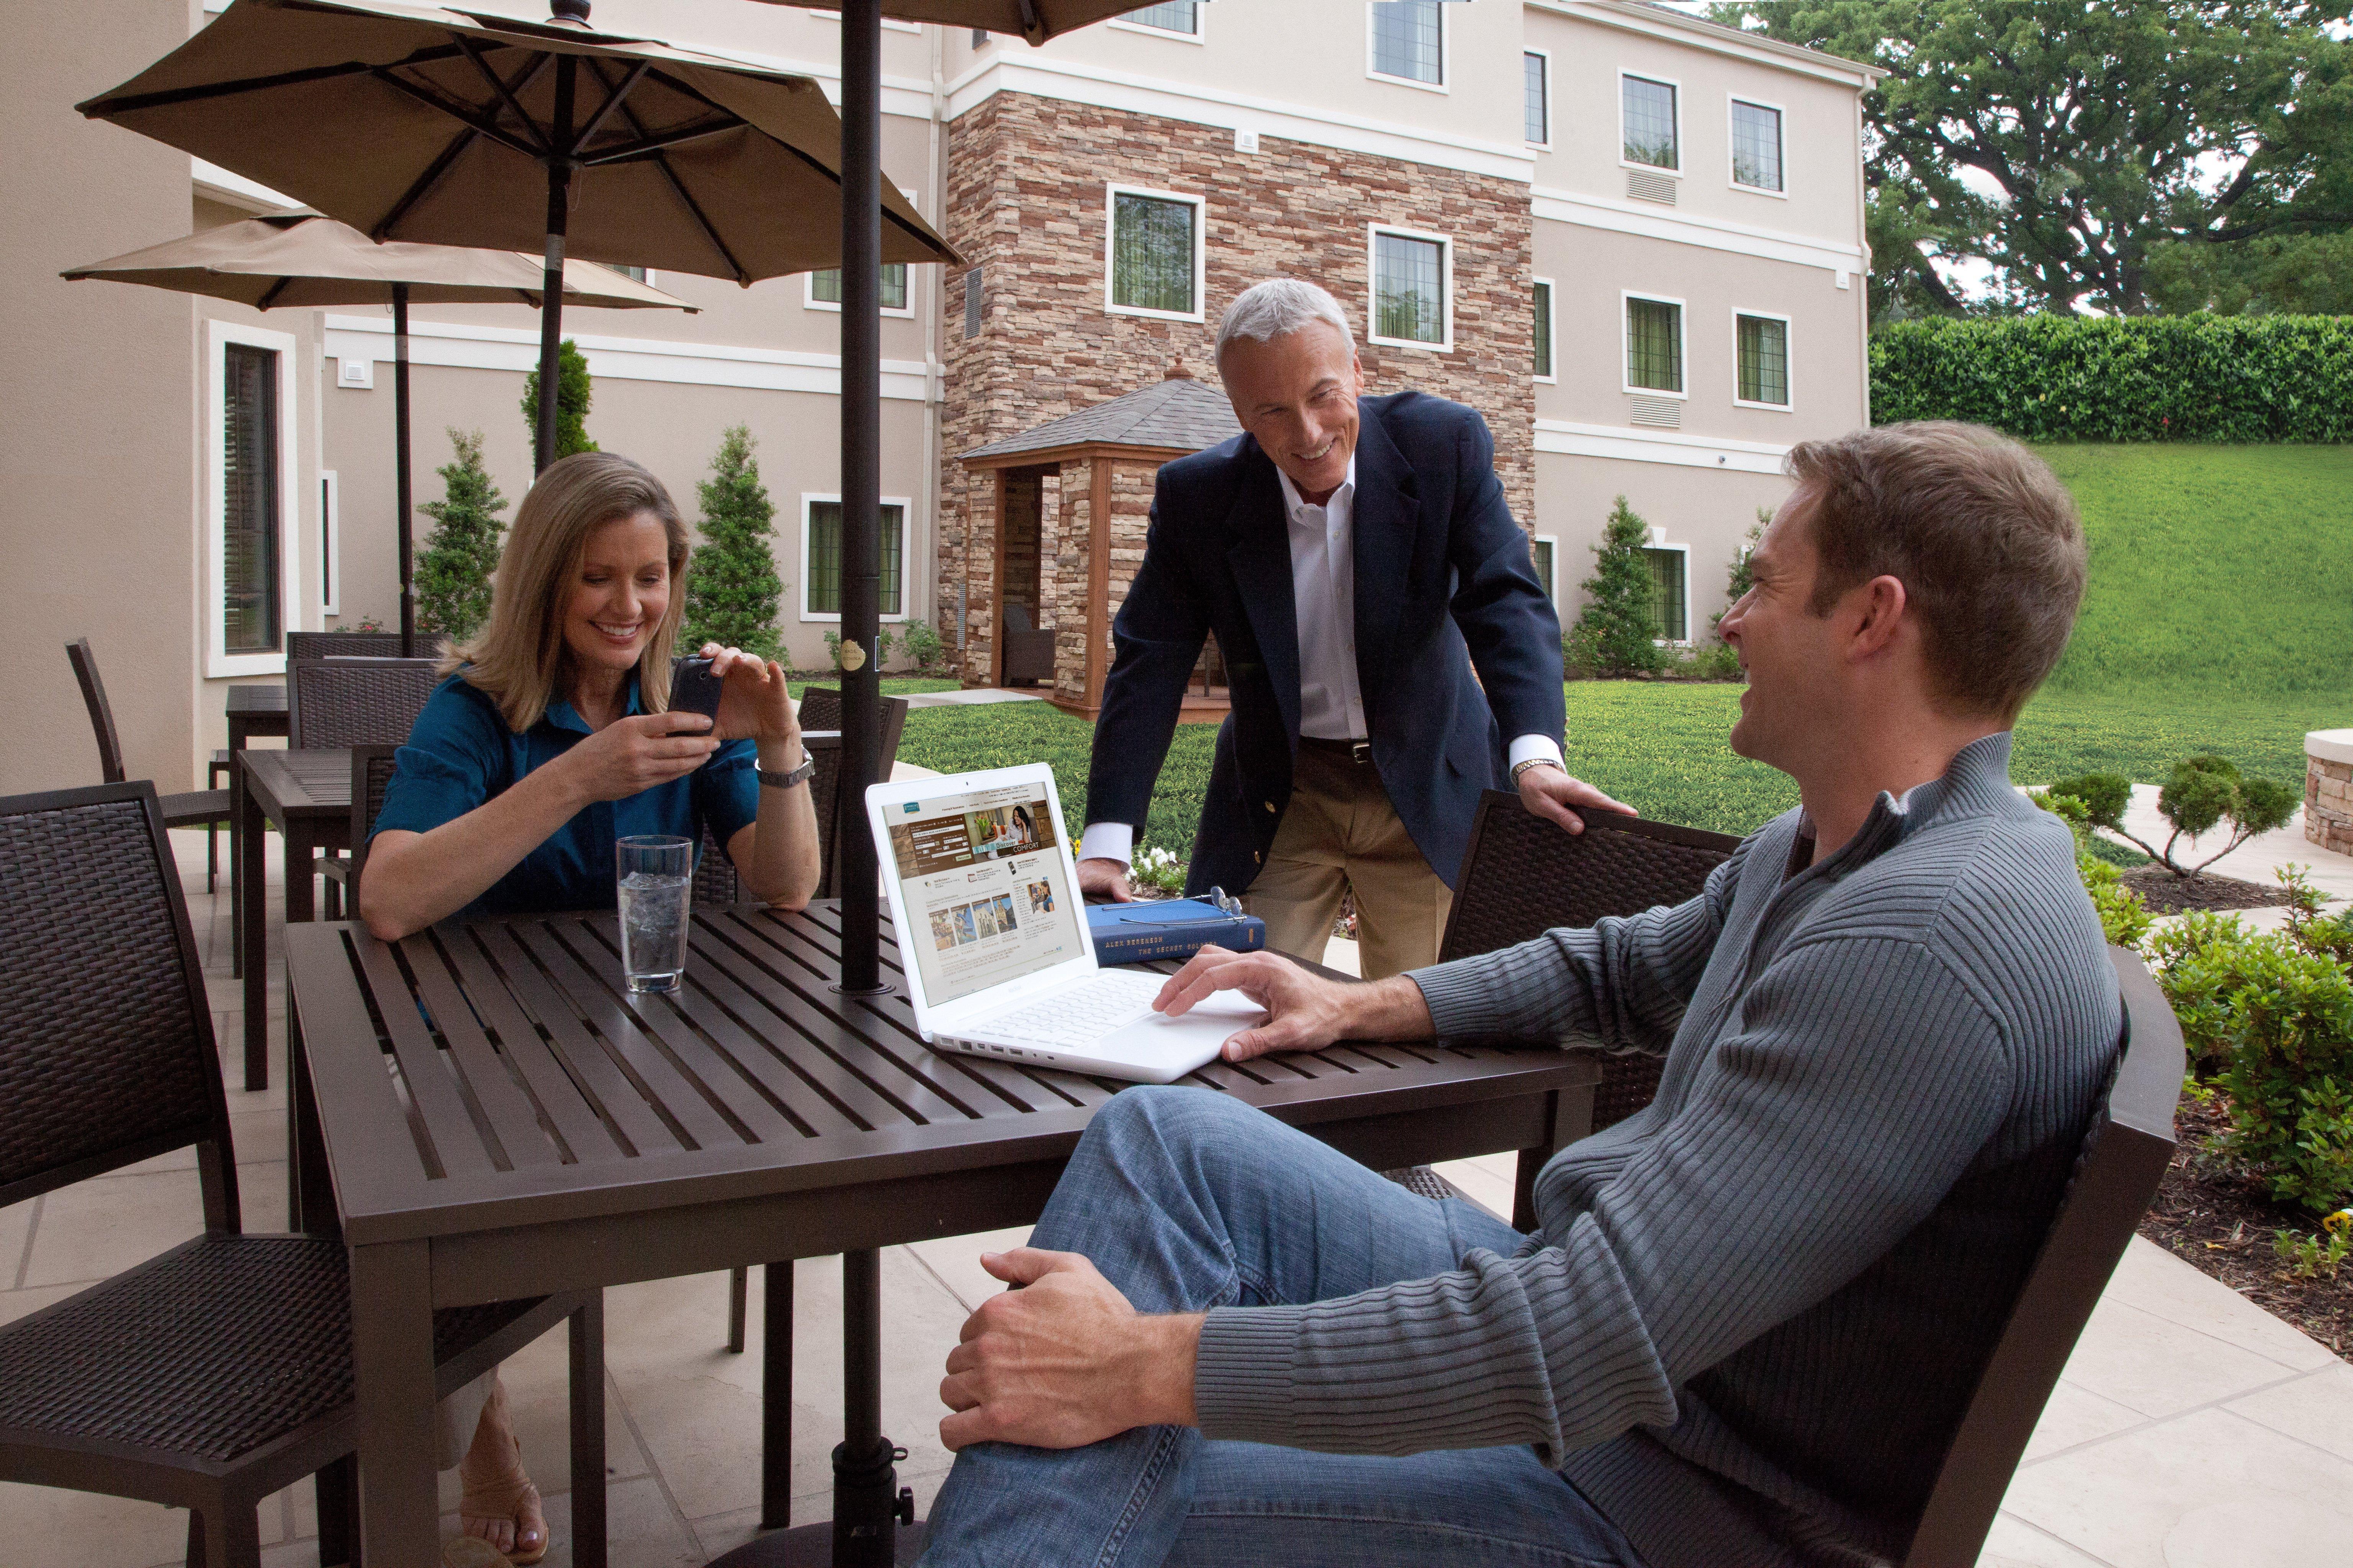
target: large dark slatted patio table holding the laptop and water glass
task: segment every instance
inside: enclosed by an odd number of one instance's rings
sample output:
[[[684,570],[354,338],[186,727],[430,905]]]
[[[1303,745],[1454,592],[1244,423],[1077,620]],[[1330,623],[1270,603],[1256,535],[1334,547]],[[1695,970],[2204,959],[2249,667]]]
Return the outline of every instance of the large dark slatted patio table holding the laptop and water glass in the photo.
[[[287,926],[289,1197],[351,1246],[372,1563],[435,1549],[435,1307],[1024,1225],[1122,1088],[934,1053],[904,985],[842,994],[833,900],[696,907],[673,997],[628,994],[616,943],[609,910],[445,922],[398,952]],[[887,919],[882,943],[896,983]],[[1525,1208],[1595,1079],[1558,1048],[1424,1041],[1186,1081],[1379,1168],[1520,1150]],[[767,1345],[762,1516],[784,1523],[791,1324]],[[574,1561],[602,1561],[600,1526],[574,1521]]]

